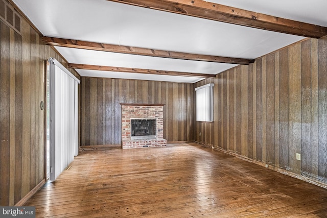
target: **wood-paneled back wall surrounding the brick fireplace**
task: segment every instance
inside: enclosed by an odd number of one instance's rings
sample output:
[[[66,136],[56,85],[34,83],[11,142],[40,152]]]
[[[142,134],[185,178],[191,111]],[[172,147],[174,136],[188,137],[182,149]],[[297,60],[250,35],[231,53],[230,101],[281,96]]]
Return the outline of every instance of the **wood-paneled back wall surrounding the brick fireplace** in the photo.
[[[193,84],[83,77],[81,90],[81,146],[121,144],[120,103],[165,104],[164,138],[194,140]]]

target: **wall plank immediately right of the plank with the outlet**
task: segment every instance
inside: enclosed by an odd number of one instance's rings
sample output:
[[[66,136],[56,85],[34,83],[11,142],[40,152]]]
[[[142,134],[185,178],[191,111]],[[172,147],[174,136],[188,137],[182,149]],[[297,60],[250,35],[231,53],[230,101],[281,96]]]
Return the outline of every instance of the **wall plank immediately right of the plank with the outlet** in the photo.
[[[301,171],[311,173],[311,40],[301,42]]]

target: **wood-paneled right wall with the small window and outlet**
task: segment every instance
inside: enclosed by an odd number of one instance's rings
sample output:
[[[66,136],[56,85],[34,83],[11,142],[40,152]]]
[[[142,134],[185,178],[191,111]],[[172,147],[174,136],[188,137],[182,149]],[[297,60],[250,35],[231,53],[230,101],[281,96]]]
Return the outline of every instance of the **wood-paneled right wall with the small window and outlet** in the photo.
[[[327,181],[327,37],[292,44],[196,87],[212,82],[214,122],[196,122],[197,141]]]

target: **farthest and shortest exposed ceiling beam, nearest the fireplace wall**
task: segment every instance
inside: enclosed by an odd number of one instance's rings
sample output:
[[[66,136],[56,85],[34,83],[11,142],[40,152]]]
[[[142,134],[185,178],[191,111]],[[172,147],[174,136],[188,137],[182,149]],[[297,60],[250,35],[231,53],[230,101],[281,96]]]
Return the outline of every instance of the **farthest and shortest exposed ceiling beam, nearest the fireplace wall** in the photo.
[[[136,74],[155,74],[155,75],[182,76],[182,77],[201,77],[201,78],[216,77],[216,75],[212,75],[212,74],[196,74],[194,72],[176,72],[176,71],[166,71],[166,70],[137,69],[137,68],[127,68],[127,67],[98,66],[98,65],[87,65],[87,64],[73,64],[73,63],[69,63],[68,68],[103,70],[103,71],[114,71],[114,72],[133,72]]]

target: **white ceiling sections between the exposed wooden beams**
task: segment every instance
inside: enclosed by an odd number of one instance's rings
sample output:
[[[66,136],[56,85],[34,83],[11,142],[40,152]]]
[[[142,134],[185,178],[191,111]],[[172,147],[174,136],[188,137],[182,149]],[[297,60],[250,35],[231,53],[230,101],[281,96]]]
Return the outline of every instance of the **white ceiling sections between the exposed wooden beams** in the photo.
[[[255,59],[303,39],[106,0],[13,0],[44,35],[184,53]],[[327,27],[325,0],[212,0],[221,5]],[[177,60],[56,46],[69,62],[216,75],[235,64]],[[203,78],[99,70],[76,71],[109,77],[194,83]]]

